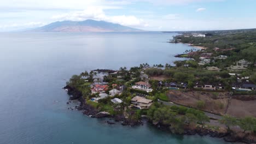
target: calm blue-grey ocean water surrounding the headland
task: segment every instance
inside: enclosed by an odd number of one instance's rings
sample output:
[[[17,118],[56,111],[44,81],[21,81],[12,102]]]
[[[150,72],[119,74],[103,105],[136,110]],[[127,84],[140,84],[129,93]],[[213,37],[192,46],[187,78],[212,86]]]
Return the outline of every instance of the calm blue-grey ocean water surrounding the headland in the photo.
[[[0,33],[0,143],[225,143],[176,136],[149,125],[108,125],[67,108],[73,74],[140,63],[165,64],[190,49],[175,33]],[[182,60],[182,59],[181,59]],[[72,105],[76,105],[72,103]]]

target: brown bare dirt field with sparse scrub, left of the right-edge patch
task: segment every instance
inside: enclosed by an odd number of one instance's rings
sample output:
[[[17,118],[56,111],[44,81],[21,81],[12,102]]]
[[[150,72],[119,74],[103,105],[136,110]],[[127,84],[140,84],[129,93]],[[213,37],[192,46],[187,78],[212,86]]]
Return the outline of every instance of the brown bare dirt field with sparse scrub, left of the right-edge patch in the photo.
[[[225,114],[229,100],[228,92],[183,92],[173,90],[169,91],[167,96],[174,103],[190,107],[197,107],[198,101],[203,101],[205,107],[201,108],[202,110],[218,113],[220,115]]]

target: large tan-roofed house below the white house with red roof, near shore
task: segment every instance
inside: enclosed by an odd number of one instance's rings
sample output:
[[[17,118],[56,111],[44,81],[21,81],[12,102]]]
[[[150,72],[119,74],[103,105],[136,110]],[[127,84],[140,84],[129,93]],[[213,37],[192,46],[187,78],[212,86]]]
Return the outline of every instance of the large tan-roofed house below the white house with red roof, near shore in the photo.
[[[136,96],[131,99],[131,103],[139,109],[148,109],[153,104],[153,101],[143,97]]]

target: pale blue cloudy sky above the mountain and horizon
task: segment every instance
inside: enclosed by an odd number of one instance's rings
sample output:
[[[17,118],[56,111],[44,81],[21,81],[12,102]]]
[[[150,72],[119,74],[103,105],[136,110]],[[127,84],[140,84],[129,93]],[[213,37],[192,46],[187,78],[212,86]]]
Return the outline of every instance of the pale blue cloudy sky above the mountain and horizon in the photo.
[[[0,32],[87,19],[146,31],[256,28],[256,1],[0,0]]]

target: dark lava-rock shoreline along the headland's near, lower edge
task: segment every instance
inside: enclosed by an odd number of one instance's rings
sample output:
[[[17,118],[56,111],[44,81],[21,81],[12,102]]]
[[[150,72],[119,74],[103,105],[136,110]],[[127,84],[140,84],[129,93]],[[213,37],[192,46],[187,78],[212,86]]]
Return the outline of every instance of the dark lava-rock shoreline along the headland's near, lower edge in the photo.
[[[77,99],[80,101],[80,106],[77,107],[77,110],[83,111],[84,115],[90,116],[92,118],[109,118],[109,120],[105,121],[108,124],[115,124],[115,122],[119,122],[121,123],[121,125],[130,125],[131,127],[135,125],[143,125],[142,121],[132,121],[131,119],[125,118],[124,115],[113,116],[113,115],[109,115],[109,113],[107,112],[100,112],[94,107],[92,107],[91,105],[86,104],[80,92],[76,91],[75,89],[69,86],[65,86],[63,88],[67,89],[68,94],[71,95],[71,97],[69,97],[69,100]],[[172,127],[170,127],[170,125],[163,125],[160,123],[154,124],[153,122],[148,121],[148,119],[147,119],[147,122],[152,124],[154,127],[158,128],[159,130],[168,131],[172,133]],[[222,138],[226,142],[256,143],[253,137],[249,135],[238,136],[229,131],[216,131],[216,130],[211,130],[206,128],[195,128],[195,129],[185,128],[181,135],[196,135],[196,134],[200,136],[209,135],[211,137]]]

